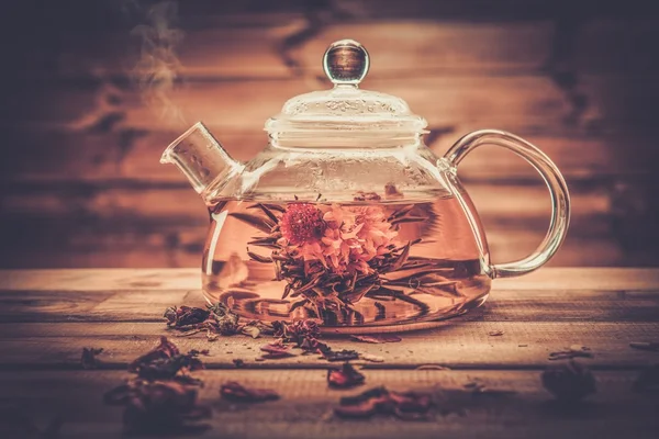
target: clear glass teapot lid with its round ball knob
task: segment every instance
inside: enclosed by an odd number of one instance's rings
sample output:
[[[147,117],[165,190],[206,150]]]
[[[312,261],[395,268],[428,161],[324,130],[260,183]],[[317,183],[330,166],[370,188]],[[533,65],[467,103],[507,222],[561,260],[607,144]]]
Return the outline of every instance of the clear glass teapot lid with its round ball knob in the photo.
[[[426,121],[410,111],[407,103],[391,94],[359,89],[370,66],[361,44],[342,40],[330,45],[323,56],[331,90],[297,95],[281,113],[266,122],[272,140],[308,137],[361,137],[377,134],[380,139],[414,137],[425,133]]]

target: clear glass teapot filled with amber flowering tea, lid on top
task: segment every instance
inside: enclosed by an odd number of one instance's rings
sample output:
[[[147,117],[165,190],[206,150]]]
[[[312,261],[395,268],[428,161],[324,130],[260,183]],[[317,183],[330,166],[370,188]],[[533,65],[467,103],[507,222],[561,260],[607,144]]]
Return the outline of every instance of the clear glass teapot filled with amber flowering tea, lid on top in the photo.
[[[233,160],[202,123],[163,154],[210,212],[202,258],[209,302],[249,319],[317,319],[326,331],[417,329],[483,304],[493,279],[554,256],[570,198],[545,154],[483,130],[437,158],[423,143],[423,117],[400,98],[359,88],[369,68],[359,43],[332,44],[323,67],[334,88],[289,100],[266,123],[268,146],[247,164]],[[457,177],[469,151],[488,144],[525,158],[549,188],[549,230],[515,262],[490,262]]]

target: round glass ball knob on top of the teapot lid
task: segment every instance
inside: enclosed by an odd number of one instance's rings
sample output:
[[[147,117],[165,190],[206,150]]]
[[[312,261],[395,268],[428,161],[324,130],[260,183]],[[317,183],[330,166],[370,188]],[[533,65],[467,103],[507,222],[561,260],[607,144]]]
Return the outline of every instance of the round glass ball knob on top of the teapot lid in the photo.
[[[354,40],[332,43],[323,56],[325,75],[336,86],[357,86],[368,74],[369,65],[368,52]]]

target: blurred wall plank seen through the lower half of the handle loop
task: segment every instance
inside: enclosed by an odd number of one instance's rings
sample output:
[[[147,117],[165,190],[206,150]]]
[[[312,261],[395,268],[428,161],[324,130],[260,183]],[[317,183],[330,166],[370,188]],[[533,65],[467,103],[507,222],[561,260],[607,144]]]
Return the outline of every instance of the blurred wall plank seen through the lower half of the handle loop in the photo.
[[[35,184],[15,185],[11,193],[1,194],[5,221],[41,216],[53,221],[72,216],[112,221],[118,229],[131,229],[130,221],[148,224],[205,225],[208,213],[201,199],[188,189],[181,176],[180,188],[160,189],[157,185],[135,188],[103,188],[94,185]],[[550,201],[543,184],[467,184],[467,191],[484,222],[492,225],[516,225],[545,228],[549,221]],[[27,195],[27,196],[26,196]],[[610,199],[600,188],[574,188],[571,191],[573,223],[587,222],[590,230],[599,217],[611,213]],[[138,227],[133,227],[133,229]],[[600,230],[599,230],[600,232]],[[606,230],[607,232],[607,230]]]

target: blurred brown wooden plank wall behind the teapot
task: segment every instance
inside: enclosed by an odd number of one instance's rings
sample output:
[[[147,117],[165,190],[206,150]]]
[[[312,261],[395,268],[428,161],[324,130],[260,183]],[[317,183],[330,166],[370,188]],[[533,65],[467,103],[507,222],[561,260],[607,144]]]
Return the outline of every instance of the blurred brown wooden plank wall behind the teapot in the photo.
[[[652,2],[192,0],[157,25],[155,2],[14,3],[1,30],[0,267],[198,266],[208,216],[182,176],[158,164],[160,151],[203,120],[249,159],[288,98],[328,87],[320,60],[345,37],[371,54],[364,88],[405,99],[428,120],[438,154],[495,127],[556,161],[573,219],[552,266],[659,262]],[[158,40],[156,60],[169,70],[148,102],[131,74],[141,23],[174,38]],[[177,74],[171,87],[167,71]],[[528,165],[483,148],[460,177],[494,261],[535,248],[549,199]]]

